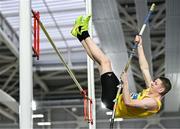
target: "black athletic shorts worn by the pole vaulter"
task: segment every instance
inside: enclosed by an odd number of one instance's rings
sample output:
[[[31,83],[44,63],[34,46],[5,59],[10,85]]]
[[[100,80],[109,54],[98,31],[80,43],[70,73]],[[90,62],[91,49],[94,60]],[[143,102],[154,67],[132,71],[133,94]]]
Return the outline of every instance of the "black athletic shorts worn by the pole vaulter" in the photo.
[[[101,100],[110,110],[113,110],[117,94],[117,86],[120,84],[119,79],[113,72],[107,72],[101,75],[102,96]]]

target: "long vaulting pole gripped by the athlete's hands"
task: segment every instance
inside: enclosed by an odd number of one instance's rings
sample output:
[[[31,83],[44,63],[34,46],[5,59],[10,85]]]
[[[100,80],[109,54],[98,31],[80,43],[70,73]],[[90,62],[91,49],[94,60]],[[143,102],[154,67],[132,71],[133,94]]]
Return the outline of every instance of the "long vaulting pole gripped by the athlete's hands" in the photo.
[[[148,12],[148,15],[146,16],[146,19],[144,20],[144,24],[143,24],[143,26],[141,27],[141,30],[140,30],[140,32],[139,32],[139,35],[142,35],[142,34],[143,34],[143,32],[144,32],[144,30],[145,30],[145,28],[146,28],[146,26],[147,26],[147,23],[148,23],[148,21],[149,21],[149,18],[150,18],[150,16],[152,15],[152,12],[154,11],[154,8],[155,8],[155,4],[153,3],[153,4],[151,5],[151,8],[150,8],[149,12]],[[132,59],[132,57],[133,57],[133,55],[134,55],[134,53],[135,53],[135,51],[136,51],[136,48],[137,48],[137,44],[135,43],[135,44],[133,45],[132,52],[130,53],[129,59],[128,59],[126,65],[125,65],[125,68],[124,68],[123,72],[127,72],[127,71],[128,71],[129,65],[130,65],[130,63],[131,63],[131,59]],[[123,72],[122,72],[122,73],[123,73]],[[121,74],[121,75],[122,75],[122,74]],[[120,79],[121,79],[121,77],[120,77]],[[112,112],[112,116],[111,116],[110,129],[113,129],[113,124],[114,124],[114,118],[115,118],[117,103],[118,103],[118,99],[119,99],[119,94],[120,94],[121,89],[122,89],[122,85],[123,85],[123,82],[122,82],[122,80],[120,80],[120,84],[118,85],[118,91],[117,91],[117,94],[116,94],[116,98],[115,98],[115,100],[114,100],[114,107],[113,107],[113,112]]]

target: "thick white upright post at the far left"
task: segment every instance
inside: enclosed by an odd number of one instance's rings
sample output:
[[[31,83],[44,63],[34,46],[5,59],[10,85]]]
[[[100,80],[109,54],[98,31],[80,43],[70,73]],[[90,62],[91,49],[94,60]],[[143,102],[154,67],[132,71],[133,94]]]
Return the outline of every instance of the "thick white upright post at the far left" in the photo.
[[[20,129],[32,129],[31,0],[20,0]]]

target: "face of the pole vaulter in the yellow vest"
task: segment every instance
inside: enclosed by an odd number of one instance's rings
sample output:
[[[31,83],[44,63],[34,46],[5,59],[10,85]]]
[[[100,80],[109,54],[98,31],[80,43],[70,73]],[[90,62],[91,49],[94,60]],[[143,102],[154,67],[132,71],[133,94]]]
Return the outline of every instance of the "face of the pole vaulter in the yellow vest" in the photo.
[[[164,86],[162,84],[162,81],[158,78],[151,82],[151,89],[153,92],[161,93],[164,91]]]

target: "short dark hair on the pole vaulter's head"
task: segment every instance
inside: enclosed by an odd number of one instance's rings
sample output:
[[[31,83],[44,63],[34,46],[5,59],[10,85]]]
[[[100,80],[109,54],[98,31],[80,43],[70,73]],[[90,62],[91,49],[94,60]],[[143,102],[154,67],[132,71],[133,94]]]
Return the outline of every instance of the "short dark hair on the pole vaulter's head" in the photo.
[[[164,96],[166,93],[168,93],[171,90],[171,81],[166,77],[159,77],[159,79],[162,81],[162,84],[165,88],[165,90],[161,93],[162,96]]]

